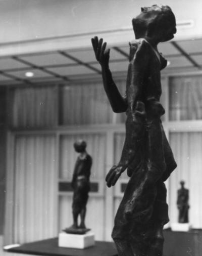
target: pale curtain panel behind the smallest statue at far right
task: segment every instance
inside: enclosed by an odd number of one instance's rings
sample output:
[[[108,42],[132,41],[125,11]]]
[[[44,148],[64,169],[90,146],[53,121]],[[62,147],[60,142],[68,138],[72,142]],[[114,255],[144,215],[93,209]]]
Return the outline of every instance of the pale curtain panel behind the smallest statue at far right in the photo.
[[[193,228],[202,228],[202,133],[171,133],[170,144],[178,164],[170,177],[170,221],[178,221],[177,189],[183,180],[185,188],[189,189],[189,222]]]

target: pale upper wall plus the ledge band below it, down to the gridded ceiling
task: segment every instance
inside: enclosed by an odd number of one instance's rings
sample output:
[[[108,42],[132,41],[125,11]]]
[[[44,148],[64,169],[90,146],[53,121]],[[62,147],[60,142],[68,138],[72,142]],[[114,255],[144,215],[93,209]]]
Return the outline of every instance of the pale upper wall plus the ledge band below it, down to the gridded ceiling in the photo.
[[[131,19],[139,13],[140,7],[155,3],[148,0],[1,1],[0,55],[40,51],[40,49],[48,51],[89,47],[91,37],[89,33],[104,36],[109,44],[121,44],[134,38]],[[177,22],[188,20],[194,22],[192,27],[178,29],[175,39],[195,38],[202,35],[200,26],[202,17],[198,12],[202,9],[200,0],[194,1],[192,5],[189,0],[185,0],[183,6],[181,0],[162,0],[161,4],[171,6]],[[104,31],[111,32],[109,34]],[[86,37],[81,35],[69,37],[83,33],[87,34]],[[46,40],[42,43],[41,39],[44,38]],[[7,42],[11,44],[5,45]],[[14,42],[21,44],[16,45]],[[33,44],[36,47],[33,47]]]

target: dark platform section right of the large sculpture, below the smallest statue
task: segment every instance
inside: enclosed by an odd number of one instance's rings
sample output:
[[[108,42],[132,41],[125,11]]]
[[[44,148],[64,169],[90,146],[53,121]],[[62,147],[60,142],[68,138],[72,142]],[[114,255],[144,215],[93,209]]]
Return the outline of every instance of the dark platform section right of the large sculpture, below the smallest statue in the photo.
[[[164,238],[164,256],[202,256],[202,230],[165,230]]]

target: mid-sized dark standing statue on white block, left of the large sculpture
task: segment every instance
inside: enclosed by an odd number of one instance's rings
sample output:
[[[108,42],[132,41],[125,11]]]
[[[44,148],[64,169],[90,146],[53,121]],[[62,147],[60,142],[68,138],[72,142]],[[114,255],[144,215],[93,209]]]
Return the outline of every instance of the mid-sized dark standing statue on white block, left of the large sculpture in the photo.
[[[88,200],[88,192],[90,191],[90,169],[92,165],[92,158],[86,152],[86,142],[79,140],[74,143],[74,149],[80,153],[74,167],[74,174],[72,178],[73,188],[73,225],[66,228],[66,233],[84,234],[90,229],[85,226],[86,204]],[[80,215],[81,222],[78,225],[78,217]]]

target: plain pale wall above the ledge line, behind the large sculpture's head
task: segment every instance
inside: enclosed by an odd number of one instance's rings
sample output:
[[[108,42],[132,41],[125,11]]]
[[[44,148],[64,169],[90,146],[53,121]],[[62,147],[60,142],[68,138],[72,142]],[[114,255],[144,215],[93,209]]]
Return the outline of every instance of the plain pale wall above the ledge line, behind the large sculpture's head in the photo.
[[[159,1],[137,0],[10,0],[1,1],[1,42],[61,36],[74,33],[120,29],[131,27],[131,19],[141,6],[150,6]],[[198,10],[202,3],[195,0],[162,0],[170,5],[176,20],[195,21],[195,27],[188,30],[189,36],[201,35],[202,21]],[[182,11],[183,10],[183,11]]]

